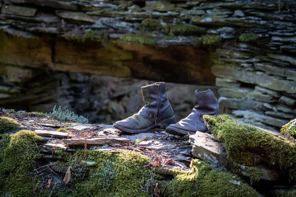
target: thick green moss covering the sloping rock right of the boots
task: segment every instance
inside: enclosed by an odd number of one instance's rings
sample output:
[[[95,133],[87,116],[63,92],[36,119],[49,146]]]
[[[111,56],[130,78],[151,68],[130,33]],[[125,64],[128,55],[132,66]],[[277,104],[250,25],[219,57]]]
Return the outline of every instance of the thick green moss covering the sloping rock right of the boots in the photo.
[[[283,171],[289,172],[291,179],[296,179],[295,143],[253,126],[235,122],[227,115],[204,115],[203,118],[213,134],[225,142],[226,154],[234,162],[246,166],[256,165],[258,161],[249,151],[260,148],[271,164],[278,165]],[[254,178],[257,179],[256,176]]]

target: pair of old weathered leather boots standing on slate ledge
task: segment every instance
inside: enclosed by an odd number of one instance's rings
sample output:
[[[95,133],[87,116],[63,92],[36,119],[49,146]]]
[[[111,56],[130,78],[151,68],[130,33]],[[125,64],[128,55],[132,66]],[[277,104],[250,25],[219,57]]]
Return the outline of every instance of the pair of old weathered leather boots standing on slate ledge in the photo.
[[[145,106],[137,114],[114,123],[114,128],[127,133],[141,133],[159,126],[174,135],[187,135],[194,134],[196,131],[208,131],[203,115],[220,114],[218,99],[210,89],[204,92],[195,91],[198,104],[185,119],[178,123],[166,97],[164,82],[142,87],[142,94]]]

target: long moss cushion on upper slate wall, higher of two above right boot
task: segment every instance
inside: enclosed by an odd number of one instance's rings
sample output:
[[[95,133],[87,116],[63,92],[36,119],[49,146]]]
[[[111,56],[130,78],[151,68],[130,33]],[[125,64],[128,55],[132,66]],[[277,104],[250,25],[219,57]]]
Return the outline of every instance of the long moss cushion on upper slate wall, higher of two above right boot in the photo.
[[[199,28],[195,25],[180,24],[171,26],[170,35],[191,35],[205,32],[204,28]]]

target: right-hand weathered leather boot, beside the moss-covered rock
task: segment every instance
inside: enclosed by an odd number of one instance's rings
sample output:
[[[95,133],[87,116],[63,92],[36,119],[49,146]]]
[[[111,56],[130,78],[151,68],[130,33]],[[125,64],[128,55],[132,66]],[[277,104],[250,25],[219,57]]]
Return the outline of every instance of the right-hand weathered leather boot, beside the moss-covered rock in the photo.
[[[208,89],[204,92],[195,91],[197,105],[192,112],[176,124],[169,125],[165,131],[174,135],[195,134],[196,131],[206,132],[208,128],[202,118],[203,115],[219,115],[219,102],[214,93]]]

